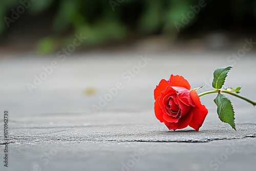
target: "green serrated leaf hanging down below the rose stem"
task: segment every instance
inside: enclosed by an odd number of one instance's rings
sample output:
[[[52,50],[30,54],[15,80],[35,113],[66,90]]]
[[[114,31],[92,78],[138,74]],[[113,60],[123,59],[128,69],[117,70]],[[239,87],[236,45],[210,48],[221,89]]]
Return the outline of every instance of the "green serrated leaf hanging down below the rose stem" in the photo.
[[[217,105],[217,113],[220,120],[230,124],[230,126],[236,130],[236,124],[234,124],[234,110],[231,101],[223,94],[218,94],[214,102]]]

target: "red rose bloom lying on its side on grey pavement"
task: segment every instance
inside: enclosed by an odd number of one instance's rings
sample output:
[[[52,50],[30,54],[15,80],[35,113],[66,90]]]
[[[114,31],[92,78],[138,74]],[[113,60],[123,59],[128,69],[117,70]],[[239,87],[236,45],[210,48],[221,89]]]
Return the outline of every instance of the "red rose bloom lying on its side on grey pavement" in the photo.
[[[202,126],[208,110],[201,104],[195,90],[184,77],[171,75],[162,79],[154,91],[155,114],[169,130],[183,129],[188,125],[196,131]]]

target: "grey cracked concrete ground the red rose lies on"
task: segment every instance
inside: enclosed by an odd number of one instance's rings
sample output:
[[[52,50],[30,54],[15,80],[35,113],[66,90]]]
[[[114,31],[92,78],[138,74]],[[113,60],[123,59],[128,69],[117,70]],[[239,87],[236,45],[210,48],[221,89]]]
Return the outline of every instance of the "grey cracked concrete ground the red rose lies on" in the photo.
[[[201,91],[206,91],[222,66],[233,65],[225,86],[242,86],[241,95],[255,100],[255,54],[239,60],[231,54],[94,52],[64,61],[56,55],[2,57],[0,103],[1,116],[9,111],[9,160],[7,168],[1,118],[0,170],[254,171],[256,110],[251,104],[228,96],[237,131],[218,119],[214,94],[201,97],[209,113],[199,132],[190,127],[168,131],[154,115],[153,91],[162,78],[179,74],[193,88],[205,83]],[[148,60],[136,70],[145,55]],[[27,84],[34,84],[53,60],[58,67],[30,93]],[[136,73],[129,77],[132,69]],[[122,89],[100,106],[120,83]],[[100,106],[96,112],[95,105]]]

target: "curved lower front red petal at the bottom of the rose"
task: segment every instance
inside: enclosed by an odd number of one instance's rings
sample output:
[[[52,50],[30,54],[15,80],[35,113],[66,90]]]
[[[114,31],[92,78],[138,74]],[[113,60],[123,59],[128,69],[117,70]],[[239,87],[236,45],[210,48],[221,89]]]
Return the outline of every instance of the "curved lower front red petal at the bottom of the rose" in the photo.
[[[165,121],[164,124],[168,127],[169,130],[177,130],[177,129],[184,129],[187,127],[188,123],[191,121],[192,113],[189,112],[184,117],[181,117],[177,123],[175,122],[167,122]]]

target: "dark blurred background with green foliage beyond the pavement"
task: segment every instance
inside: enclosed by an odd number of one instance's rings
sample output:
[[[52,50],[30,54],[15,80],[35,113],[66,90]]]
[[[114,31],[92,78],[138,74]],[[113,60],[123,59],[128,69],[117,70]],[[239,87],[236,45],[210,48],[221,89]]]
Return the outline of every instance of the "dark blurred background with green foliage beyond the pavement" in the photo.
[[[3,0],[0,18],[2,53],[55,52],[75,33],[88,37],[76,52],[216,50],[239,46],[244,37],[255,35],[256,1]]]

